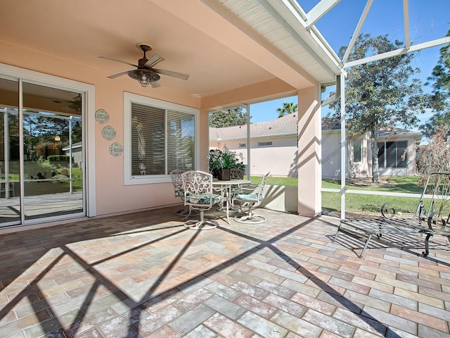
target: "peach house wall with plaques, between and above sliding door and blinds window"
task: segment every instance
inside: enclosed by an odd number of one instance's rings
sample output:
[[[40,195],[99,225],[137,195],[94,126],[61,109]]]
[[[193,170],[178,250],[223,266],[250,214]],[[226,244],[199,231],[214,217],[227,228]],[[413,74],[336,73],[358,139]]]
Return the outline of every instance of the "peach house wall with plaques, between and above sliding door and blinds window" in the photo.
[[[117,135],[114,142],[124,144],[124,92],[132,92],[155,99],[172,101],[176,104],[200,108],[200,99],[168,88],[143,88],[128,77],[115,80],[107,78],[100,70],[86,67],[79,63],[72,63],[63,58],[41,54],[35,51],[24,50],[18,46],[0,42],[0,63],[14,65],[19,68],[35,70],[64,77],[79,82],[94,84],[95,109],[88,111],[86,116],[93,115],[98,108],[103,108],[110,115],[108,125],[115,128]],[[30,63],[30,60],[33,62]],[[88,118],[84,118],[86,123]],[[101,130],[105,125],[94,123],[94,139],[87,139],[89,144],[95,144],[95,163],[87,163],[95,168],[96,177],[96,211],[97,215],[120,213],[123,211],[153,208],[157,206],[179,203],[174,198],[172,184],[142,184],[124,185],[124,156],[113,157],[109,154],[110,141],[101,137]],[[203,130],[203,134],[207,134]]]

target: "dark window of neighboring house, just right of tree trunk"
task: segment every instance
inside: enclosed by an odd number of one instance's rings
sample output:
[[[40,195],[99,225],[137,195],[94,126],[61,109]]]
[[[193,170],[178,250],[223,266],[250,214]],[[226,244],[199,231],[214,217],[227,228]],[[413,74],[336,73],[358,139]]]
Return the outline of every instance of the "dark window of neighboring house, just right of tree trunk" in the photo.
[[[378,166],[380,168],[407,168],[408,142],[378,142]]]

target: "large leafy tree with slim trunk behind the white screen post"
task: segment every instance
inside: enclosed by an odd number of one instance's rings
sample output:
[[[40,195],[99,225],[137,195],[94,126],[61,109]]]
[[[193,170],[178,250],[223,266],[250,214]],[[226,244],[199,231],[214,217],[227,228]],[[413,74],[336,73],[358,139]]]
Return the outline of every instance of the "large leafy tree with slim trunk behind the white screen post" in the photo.
[[[371,37],[361,34],[356,39],[349,61],[393,51],[403,46],[402,42],[391,42],[387,35]],[[340,56],[346,47],[340,48]],[[348,135],[370,134],[372,148],[372,182],[378,182],[378,131],[390,130],[399,125],[412,127],[418,124],[417,113],[425,113],[425,96],[422,83],[411,76],[420,73],[411,67],[413,54],[355,65],[348,73],[345,83],[345,114]],[[334,93],[331,93],[334,94]],[[340,101],[330,104],[340,118]]]

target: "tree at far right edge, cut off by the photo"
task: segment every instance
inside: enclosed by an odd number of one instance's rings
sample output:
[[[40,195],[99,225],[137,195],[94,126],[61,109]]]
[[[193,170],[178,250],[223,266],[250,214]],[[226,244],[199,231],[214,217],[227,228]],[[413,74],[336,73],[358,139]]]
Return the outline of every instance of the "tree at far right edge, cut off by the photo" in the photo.
[[[447,37],[450,36],[450,30]],[[450,46],[439,49],[439,60],[425,84],[432,85],[430,106],[435,115],[427,123],[421,125],[420,131],[429,139],[433,134],[439,134],[444,139],[450,139]],[[439,132],[438,132],[439,130]]]

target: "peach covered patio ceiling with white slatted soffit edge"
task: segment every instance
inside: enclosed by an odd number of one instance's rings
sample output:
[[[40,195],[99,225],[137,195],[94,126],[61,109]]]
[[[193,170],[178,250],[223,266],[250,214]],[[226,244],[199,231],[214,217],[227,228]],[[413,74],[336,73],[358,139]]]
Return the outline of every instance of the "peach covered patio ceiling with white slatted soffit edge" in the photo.
[[[1,49],[20,46],[12,65],[26,61],[30,70],[42,71],[28,56],[33,51],[101,70],[106,78],[134,68],[97,56],[136,64],[142,57],[136,43],[145,42],[153,46],[148,57],[165,58],[157,68],[191,75],[187,81],[162,75],[162,87],[202,98],[274,79],[294,91],[316,80],[333,82],[340,71],[329,46],[300,25],[295,1],[37,0],[23,6],[0,0],[0,7]],[[106,80],[133,81],[126,75]]]

